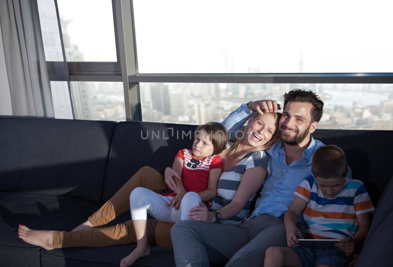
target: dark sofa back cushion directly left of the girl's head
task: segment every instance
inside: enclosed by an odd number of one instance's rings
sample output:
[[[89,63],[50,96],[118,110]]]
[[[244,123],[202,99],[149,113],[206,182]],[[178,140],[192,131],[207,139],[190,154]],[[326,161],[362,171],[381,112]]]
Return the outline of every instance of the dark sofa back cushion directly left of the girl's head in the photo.
[[[192,147],[195,128],[195,125],[119,122],[110,148],[103,199],[110,199],[143,166],[160,173],[172,167],[176,153]]]

